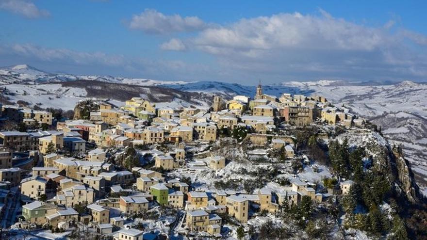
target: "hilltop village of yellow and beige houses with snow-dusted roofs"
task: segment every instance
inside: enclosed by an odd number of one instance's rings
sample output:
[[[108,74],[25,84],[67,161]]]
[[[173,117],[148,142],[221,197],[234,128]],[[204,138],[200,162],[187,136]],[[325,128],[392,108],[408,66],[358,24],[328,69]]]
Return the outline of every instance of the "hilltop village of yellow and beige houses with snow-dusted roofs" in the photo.
[[[2,227],[70,239],[243,239],[265,216],[354,184],[298,150],[296,129],[317,126],[321,141],[367,124],[322,96],[269,96],[261,84],[253,99],[213,96],[210,107],[132,97],[79,102],[74,119],[1,109],[21,129],[0,132]]]

